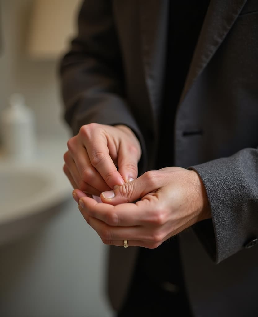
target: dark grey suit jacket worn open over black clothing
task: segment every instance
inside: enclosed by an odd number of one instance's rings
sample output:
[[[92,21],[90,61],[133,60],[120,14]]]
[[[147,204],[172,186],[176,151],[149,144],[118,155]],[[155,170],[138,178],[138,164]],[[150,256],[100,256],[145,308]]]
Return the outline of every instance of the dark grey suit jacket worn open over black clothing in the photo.
[[[90,122],[131,127],[143,149],[140,173],[155,168],[167,4],[85,1],[78,36],[61,65],[73,132]],[[212,211],[212,220],[180,234],[193,311],[258,316],[258,247],[249,248],[258,237],[257,0],[211,0],[174,127],[167,142],[173,143],[175,165],[199,173]],[[110,266],[114,306],[126,290],[123,259],[132,264],[135,250],[112,250],[121,256]]]

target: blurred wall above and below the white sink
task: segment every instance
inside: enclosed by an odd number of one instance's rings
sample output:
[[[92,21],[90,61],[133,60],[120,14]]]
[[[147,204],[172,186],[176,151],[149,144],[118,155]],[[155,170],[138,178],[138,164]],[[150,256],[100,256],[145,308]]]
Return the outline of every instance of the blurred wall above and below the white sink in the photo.
[[[67,139],[57,62],[33,61],[25,54],[32,1],[0,5],[0,111],[11,93],[20,92],[35,111],[37,135]],[[37,231],[0,247],[0,316],[111,316],[104,294],[105,246],[72,198],[52,212]]]

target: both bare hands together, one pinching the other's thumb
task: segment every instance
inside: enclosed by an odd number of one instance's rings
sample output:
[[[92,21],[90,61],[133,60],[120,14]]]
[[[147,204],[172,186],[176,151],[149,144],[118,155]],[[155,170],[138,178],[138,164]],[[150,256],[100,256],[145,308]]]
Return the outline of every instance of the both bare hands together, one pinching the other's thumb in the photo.
[[[123,246],[127,239],[129,246],[156,248],[211,217],[195,171],[167,167],[136,178],[140,153],[137,138],[125,126],[83,126],[68,141],[64,171],[75,188],[73,197],[105,244]]]

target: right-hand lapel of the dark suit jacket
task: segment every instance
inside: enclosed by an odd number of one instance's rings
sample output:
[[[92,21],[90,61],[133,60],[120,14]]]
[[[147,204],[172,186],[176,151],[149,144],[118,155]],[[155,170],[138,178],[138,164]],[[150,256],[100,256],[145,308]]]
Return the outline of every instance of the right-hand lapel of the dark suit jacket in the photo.
[[[194,51],[180,103],[219,48],[247,0],[211,0]]]

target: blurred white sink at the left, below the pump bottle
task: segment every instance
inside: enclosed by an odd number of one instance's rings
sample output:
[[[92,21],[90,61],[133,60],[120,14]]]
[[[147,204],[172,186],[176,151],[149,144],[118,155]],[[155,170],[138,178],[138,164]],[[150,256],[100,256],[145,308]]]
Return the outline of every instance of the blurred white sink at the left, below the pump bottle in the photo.
[[[45,141],[27,163],[0,160],[0,244],[28,232],[44,213],[71,197],[63,171],[65,143]]]

